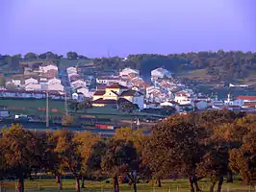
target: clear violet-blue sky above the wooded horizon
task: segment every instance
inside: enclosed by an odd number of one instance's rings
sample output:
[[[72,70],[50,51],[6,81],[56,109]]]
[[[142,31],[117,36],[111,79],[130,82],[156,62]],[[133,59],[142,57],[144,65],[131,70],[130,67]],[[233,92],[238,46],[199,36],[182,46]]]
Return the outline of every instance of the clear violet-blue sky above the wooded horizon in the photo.
[[[0,0],[0,54],[256,51],[255,0]]]

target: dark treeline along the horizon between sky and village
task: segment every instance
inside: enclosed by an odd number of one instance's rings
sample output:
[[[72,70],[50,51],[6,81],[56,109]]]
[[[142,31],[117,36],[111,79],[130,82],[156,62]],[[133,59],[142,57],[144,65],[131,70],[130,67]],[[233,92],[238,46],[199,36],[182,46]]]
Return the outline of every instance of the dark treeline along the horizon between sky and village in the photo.
[[[20,54],[14,56],[1,56],[0,60],[9,58],[18,58],[20,60],[61,60],[63,55],[46,52],[43,54],[27,53],[22,56]],[[186,72],[194,69],[206,69],[207,74],[218,81],[230,81],[233,79],[243,79],[247,77],[251,71],[256,71],[256,53],[241,51],[224,52],[197,52],[182,54],[138,54],[129,55],[127,60],[119,57],[112,58],[95,58],[90,59],[86,56],[79,55],[76,52],[67,52],[68,60],[92,60],[102,70],[123,69],[131,67],[139,69],[141,75],[149,76],[150,71],[157,67],[165,67],[171,72]]]

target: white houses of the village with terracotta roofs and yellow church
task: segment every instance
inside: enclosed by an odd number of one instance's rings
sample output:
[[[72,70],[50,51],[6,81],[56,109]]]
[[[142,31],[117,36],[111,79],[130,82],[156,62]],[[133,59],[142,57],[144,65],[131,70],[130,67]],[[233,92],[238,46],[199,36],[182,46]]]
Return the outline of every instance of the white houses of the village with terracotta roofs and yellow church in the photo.
[[[28,78],[13,78],[8,81],[6,87],[12,84],[16,90],[0,90],[0,97],[41,99],[48,92],[53,99],[64,98],[65,87],[59,79],[58,66],[54,62],[24,62],[21,65],[24,77]],[[238,96],[232,99],[229,94],[225,101],[218,101],[207,95],[194,93],[163,67],[151,71],[150,84],[141,78],[139,70],[131,68],[96,77],[81,75],[82,69],[76,66],[65,70],[71,99],[82,102],[85,98],[90,98],[93,107],[116,106],[116,101],[121,98],[136,104],[140,109],[172,107],[180,112],[223,108],[256,111],[256,96]],[[33,76],[29,77],[30,74]]]

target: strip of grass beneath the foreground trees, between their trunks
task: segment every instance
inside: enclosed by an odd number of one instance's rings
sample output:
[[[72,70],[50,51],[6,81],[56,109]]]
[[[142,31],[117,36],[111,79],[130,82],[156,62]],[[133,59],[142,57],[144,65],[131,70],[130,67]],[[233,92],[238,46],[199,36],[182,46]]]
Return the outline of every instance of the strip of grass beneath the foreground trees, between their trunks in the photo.
[[[63,191],[64,192],[71,192],[75,191],[74,189],[74,180],[63,180]],[[14,191],[15,182],[13,181],[5,181],[2,183],[2,191],[11,192]],[[199,186],[202,191],[209,191],[210,182],[208,180],[202,180],[199,182]],[[162,187],[154,186],[152,182],[144,184],[138,184],[138,191],[139,192],[187,192],[189,191],[189,182],[188,180],[164,180]],[[234,183],[223,183],[222,191],[251,191],[254,192],[256,188],[251,188],[246,185],[240,183],[240,181],[236,180]],[[27,192],[38,192],[38,191],[47,191],[47,192],[55,192],[58,191],[58,185],[55,183],[55,180],[26,180],[25,182],[25,191]],[[90,192],[109,192],[113,191],[112,183],[106,183],[106,181],[86,181],[86,188],[81,189],[82,192],[90,191]],[[120,184],[120,191],[122,192],[131,192],[133,188],[129,184]]]

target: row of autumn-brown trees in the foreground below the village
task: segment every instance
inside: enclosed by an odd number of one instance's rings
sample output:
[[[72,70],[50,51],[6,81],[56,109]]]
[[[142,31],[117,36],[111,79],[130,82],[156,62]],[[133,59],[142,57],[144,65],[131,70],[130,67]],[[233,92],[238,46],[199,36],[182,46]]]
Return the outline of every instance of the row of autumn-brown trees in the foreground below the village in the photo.
[[[231,111],[172,115],[149,134],[131,129],[116,130],[102,140],[90,132],[60,130],[33,133],[18,125],[4,129],[0,138],[1,178],[24,180],[32,173],[52,173],[62,188],[62,176],[70,173],[76,191],[85,179],[112,178],[118,192],[119,179],[137,183],[165,178],[187,178],[191,191],[200,191],[198,181],[211,180],[210,192],[224,177],[233,174],[249,185],[256,180],[256,117]],[[82,184],[80,183],[82,181]]]

